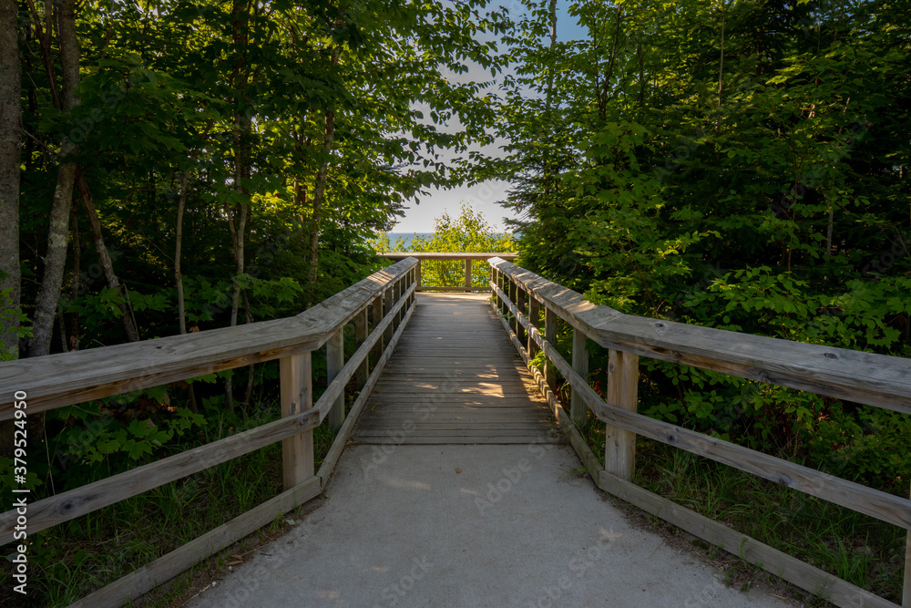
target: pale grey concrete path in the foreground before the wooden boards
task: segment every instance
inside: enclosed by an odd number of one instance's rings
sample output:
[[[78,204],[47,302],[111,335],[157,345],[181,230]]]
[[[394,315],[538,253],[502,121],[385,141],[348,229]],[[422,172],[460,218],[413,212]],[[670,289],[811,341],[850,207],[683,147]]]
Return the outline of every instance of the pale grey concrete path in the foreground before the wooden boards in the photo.
[[[630,527],[570,448],[354,446],[322,507],[195,608],[791,605]]]

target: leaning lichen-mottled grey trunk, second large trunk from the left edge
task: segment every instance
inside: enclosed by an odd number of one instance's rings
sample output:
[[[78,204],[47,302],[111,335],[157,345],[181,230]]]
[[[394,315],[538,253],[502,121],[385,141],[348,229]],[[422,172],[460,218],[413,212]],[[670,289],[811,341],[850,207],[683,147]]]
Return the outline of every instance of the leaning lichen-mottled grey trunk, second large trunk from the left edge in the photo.
[[[56,9],[59,33],[60,68],[63,78],[63,111],[69,113],[79,103],[76,88],[79,84],[79,46],[76,36],[76,2],[61,0]],[[76,146],[64,138],[61,152],[66,157],[76,151]],[[28,356],[50,353],[54,332],[54,315],[60,299],[64,266],[67,263],[67,236],[69,210],[73,203],[73,185],[76,181],[76,163],[65,162],[57,170],[54,201],[51,206],[47,231],[45,271],[35,300],[35,319]]]

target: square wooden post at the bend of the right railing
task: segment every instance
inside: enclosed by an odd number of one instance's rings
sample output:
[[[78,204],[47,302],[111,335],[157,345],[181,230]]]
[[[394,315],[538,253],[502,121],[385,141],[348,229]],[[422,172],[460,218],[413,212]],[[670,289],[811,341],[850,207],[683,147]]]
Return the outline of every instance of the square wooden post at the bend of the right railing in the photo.
[[[608,354],[608,404],[636,411],[639,400],[639,355],[610,349]],[[620,479],[632,479],[636,466],[636,434],[607,425],[604,469]]]

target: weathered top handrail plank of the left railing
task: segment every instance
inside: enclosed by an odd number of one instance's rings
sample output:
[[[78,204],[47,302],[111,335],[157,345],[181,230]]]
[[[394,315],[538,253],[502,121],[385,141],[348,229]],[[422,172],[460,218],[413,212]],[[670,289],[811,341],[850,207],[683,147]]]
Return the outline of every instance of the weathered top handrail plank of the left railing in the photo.
[[[287,319],[2,363],[0,420],[13,417],[16,391],[37,413],[312,351],[416,263],[396,263]]]

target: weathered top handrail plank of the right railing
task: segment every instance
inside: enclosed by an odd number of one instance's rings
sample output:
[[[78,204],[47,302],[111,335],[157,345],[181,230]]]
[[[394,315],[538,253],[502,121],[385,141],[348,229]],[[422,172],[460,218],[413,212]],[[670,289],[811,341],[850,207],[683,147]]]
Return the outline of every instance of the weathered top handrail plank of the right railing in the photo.
[[[911,359],[621,314],[515,264],[490,263],[607,348],[911,413]]]

